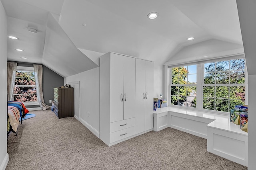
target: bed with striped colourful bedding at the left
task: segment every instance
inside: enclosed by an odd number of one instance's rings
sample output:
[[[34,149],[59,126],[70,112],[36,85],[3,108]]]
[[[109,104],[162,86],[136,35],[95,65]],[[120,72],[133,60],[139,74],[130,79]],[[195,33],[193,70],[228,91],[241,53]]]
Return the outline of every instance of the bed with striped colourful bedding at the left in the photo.
[[[9,101],[7,106],[7,135],[13,132],[17,136],[18,125],[20,122],[22,123],[22,118],[25,118],[28,109],[26,109],[22,102]],[[22,117],[21,121],[20,117]]]

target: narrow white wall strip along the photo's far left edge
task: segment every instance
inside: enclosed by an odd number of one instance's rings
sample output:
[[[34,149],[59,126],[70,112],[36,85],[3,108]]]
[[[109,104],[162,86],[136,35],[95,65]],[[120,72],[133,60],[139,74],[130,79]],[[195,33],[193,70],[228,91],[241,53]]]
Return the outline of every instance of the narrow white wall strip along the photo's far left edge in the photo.
[[[9,160],[7,154],[7,17],[0,1],[0,170]]]

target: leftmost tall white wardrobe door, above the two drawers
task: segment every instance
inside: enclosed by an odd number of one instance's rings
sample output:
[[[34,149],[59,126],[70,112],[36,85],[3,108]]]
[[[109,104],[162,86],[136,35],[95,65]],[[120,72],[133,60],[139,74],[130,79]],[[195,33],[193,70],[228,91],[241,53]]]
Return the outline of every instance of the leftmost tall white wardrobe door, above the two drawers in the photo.
[[[110,122],[124,119],[124,56],[110,56]],[[107,90],[107,89],[106,89]]]

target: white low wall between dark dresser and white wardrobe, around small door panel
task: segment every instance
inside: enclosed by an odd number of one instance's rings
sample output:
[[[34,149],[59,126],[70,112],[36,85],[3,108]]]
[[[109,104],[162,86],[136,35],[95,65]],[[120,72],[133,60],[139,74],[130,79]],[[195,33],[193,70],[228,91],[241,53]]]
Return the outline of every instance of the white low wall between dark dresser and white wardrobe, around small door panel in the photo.
[[[98,136],[100,131],[100,68],[64,78],[64,84],[75,81],[80,81],[79,120]]]

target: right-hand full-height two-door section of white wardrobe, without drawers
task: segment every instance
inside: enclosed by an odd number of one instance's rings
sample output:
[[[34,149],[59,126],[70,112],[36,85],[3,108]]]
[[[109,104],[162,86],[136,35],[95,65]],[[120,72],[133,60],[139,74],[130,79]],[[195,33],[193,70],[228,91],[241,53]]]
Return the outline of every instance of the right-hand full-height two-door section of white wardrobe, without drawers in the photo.
[[[136,59],[135,133],[153,128],[153,62]]]

